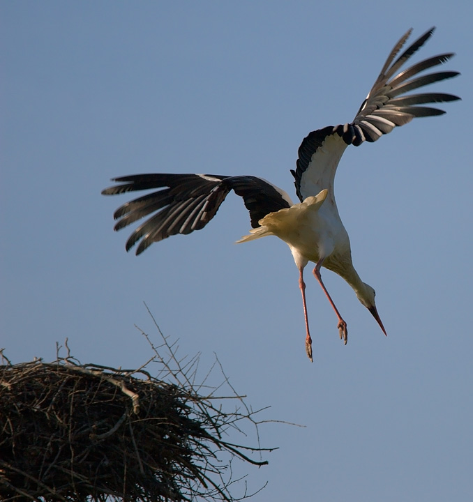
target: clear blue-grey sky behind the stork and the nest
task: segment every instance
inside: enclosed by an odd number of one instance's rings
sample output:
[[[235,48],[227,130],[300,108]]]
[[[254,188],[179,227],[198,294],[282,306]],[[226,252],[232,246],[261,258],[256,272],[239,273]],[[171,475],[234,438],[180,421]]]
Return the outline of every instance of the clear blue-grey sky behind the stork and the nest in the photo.
[[[269,466],[253,499],[471,501],[471,1],[3,1],[1,333],[15,363],[138,367],[152,354],[143,302],[179,353],[218,354],[255,409],[271,406]],[[414,60],[457,56],[447,114],[351,147],[336,177],[354,265],[388,337],[340,277],[307,269],[315,362],[304,351],[298,273],[276,238],[244,245],[230,195],[203,231],[126,253],[103,197],[142,172],[255,174],[294,195],[310,130],[350,121],[411,26],[437,31]],[[430,89],[429,89],[430,90]],[[295,195],[294,195],[295,199]],[[153,335],[154,336],[154,335]],[[158,340],[158,339],[156,339]],[[237,438],[241,441],[241,438]],[[238,494],[238,489],[235,494]]]

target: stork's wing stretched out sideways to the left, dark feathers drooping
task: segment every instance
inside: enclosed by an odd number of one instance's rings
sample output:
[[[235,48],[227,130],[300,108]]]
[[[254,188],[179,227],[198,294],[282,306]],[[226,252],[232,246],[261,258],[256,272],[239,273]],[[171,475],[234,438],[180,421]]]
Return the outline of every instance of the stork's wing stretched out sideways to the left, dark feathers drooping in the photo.
[[[130,235],[126,250],[140,241],[136,254],[153,242],[176,234],[200,230],[216,215],[230,190],[243,197],[250,211],[251,226],[272,211],[292,206],[284,190],[256,176],[219,176],[213,174],[136,174],[114,178],[121,183],[103,190],[103,195],[154,190],[126,202],[114,213],[119,230],[151,215]]]

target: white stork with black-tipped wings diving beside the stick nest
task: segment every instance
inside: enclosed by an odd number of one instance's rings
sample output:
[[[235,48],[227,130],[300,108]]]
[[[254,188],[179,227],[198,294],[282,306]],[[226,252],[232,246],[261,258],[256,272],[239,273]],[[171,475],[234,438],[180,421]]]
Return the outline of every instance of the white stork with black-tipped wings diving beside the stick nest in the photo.
[[[389,53],[354,119],[338,126],[314,130],[303,139],[298,150],[296,169],[290,169],[299,199],[295,204],[285,190],[252,175],[168,173],[112,178],[118,184],[105,188],[103,195],[153,190],[126,202],[114,213],[114,219],[118,220],[114,226],[116,231],[149,217],[130,235],[126,251],[137,244],[138,255],[153,242],[203,229],[233,190],[243,198],[250,213],[252,227],[250,233],[237,242],[277,236],[287,243],[292,252],[299,270],[299,289],[306,324],[306,353],[310,361],[313,361],[313,340],[310,336],[306,283],[303,278],[304,268],[309,261],[315,264],[313,275],[336,313],[340,340],[347,344],[347,323],[322,281],[322,267],[340,275],[350,284],[356,297],[370,311],[386,335],[377,312],[375,289],[361,280],[353,266],[350,238],[338,214],[333,181],[340,158],[348,146],[375,142],[416,117],[445,113],[442,109],[424,106],[426,104],[460,100],[458,96],[448,93],[410,93],[428,84],[459,75],[456,71],[446,70],[423,73],[449,61],[454,56],[453,52],[432,56],[401,69],[434,31],[435,26],[400,52],[412,33],[412,29],[409,29]],[[423,75],[419,75],[420,73]]]

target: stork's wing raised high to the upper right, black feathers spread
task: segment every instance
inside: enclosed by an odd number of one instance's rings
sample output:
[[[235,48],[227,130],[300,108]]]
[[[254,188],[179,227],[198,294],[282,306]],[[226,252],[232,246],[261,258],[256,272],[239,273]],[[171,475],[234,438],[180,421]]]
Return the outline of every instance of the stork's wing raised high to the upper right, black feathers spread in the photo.
[[[412,54],[426,43],[434,30],[435,27],[424,33],[395,59],[412,30],[400,38],[352,123],[319,129],[310,132],[303,139],[299,147],[296,170],[291,171],[295,178],[296,193],[301,201],[309,195],[316,195],[324,188],[328,188],[329,194],[333,197],[333,178],[338,162],[348,145],[359,146],[365,141],[375,142],[396,126],[403,126],[412,121],[414,117],[445,113],[438,108],[422,106],[426,103],[460,99],[458,96],[446,93],[406,95],[420,87],[459,75],[456,71],[441,71],[418,76],[424,70],[449,61],[454,55],[451,52],[420,61],[395,75]]]

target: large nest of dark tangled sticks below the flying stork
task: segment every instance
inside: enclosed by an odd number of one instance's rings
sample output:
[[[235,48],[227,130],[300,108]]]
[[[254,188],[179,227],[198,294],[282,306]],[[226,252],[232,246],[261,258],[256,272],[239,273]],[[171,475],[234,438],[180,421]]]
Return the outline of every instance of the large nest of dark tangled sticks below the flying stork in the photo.
[[[232,460],[267,462],[243,454],[262,452],[259,440],[248,448],[223,436],[229,428],[241,432],[241,420],[257,428],[253,411],[236,393],[230,397],[238,406],[230,412],[215,388],[200,395],[208,388],[190,379],[198,357],[184,367],[173,350],[167,360],[156,351],[156,359],[166,381],[144,368],[81,365],[70,355],[59,358],[59,351],[52,363],[6,360],[0,366],[0,499],[237,500],[229,489]]]

